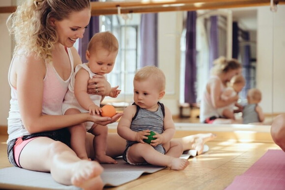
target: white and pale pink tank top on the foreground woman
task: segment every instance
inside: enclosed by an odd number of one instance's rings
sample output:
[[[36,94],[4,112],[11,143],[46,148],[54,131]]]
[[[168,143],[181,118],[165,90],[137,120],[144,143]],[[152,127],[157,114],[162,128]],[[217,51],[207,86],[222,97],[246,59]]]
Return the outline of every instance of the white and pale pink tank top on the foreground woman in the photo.
[[[46,76],[44,78],[44,92],[43,92],[43,103],[42,103],[42,114],[47,115],[61,115],[61,106],[65,96],[65,93],[68,89],[68,84],[70,78],[74,73],[74,63],[71,51],[67,48],[67,53],[71,65],[71,73],[69,78],[66,81],[63,81],[62,78],[57,74],[56,69],[51,63],[46,63]],[[13,140],[20,136],[30,135],[25,129],[18,104],[17,89],[12,86],[10,82],[10,72],[13,64],[11,65],[8,73],[8,81],[11,87],[11,100],[10,100],[10,111],[8,116],[8,140]]]

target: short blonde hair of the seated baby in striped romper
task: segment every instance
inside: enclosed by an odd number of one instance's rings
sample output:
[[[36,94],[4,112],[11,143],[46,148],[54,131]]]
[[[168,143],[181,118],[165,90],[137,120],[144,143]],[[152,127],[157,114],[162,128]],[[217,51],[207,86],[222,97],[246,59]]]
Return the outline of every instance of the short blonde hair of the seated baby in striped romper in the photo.
[[[145,66],[135,74],[134,81],[144,81],[151,78],[158,85],[160,91],[165,90],[165,75],[163,71],[155,66]]]

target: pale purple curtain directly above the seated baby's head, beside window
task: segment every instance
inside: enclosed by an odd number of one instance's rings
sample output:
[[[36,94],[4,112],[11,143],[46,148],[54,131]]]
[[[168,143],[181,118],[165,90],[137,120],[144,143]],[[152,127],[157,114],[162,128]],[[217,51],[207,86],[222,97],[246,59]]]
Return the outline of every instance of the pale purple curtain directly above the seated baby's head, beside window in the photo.
[[[158,66],[157,54],[157,13],[142,14],[140,67]]]

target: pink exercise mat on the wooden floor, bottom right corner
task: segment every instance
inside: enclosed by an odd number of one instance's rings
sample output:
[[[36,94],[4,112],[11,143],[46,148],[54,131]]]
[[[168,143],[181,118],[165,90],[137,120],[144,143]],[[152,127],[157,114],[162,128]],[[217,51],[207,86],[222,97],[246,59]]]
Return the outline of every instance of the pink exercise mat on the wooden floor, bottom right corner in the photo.
[[[226,190],[285,190],[285,152],[268,150]]]

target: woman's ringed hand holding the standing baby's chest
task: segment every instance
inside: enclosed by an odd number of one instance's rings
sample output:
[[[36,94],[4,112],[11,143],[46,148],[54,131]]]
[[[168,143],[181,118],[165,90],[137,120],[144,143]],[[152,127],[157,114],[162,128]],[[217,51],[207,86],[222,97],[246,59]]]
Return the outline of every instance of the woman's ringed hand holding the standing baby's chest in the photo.
[[[111,91],[111,85],[103,75],[95,75],[89,79],[87,85],[88,94],[98,94],[101,96],[108,96]]]

